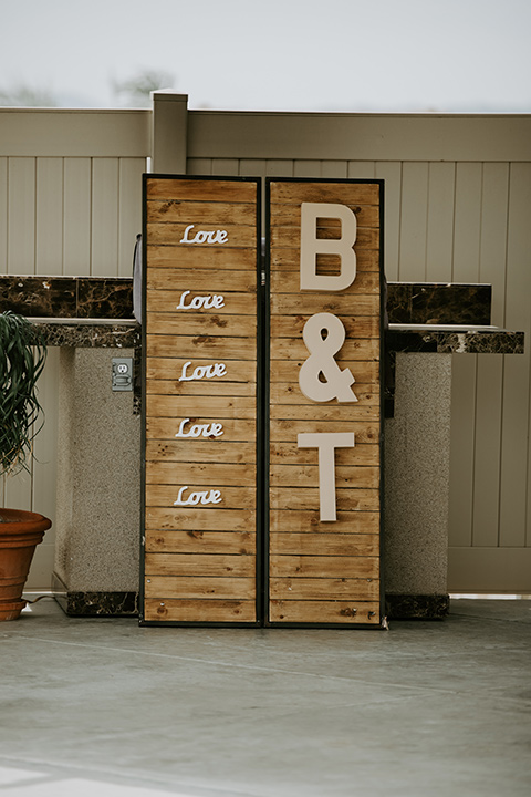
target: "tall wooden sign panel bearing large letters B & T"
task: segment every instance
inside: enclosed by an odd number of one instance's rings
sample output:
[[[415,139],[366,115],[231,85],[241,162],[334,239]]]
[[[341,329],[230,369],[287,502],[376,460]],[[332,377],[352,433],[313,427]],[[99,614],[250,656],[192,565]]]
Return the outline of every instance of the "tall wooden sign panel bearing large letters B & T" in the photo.
[[[378,625],[383,184],[268,180],[270,625]]]

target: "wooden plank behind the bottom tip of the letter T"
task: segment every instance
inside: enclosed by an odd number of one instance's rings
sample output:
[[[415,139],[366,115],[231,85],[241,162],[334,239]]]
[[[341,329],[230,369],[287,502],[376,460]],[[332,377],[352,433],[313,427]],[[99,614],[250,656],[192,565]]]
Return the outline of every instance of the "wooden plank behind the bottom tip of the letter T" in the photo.
[[[270,531],[287,534],[378,534],[378,511],[339,511],[335,522],[322,522],[317,511],[281,509],[270,513]]]

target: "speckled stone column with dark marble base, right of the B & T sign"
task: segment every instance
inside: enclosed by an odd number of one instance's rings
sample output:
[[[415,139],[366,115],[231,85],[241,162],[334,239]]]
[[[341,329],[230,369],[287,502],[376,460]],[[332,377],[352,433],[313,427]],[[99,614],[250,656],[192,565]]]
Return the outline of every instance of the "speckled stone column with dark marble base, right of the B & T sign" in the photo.
[[[451,354],[396,355],[385,422],[384,586],[391,617],[447,613]]]

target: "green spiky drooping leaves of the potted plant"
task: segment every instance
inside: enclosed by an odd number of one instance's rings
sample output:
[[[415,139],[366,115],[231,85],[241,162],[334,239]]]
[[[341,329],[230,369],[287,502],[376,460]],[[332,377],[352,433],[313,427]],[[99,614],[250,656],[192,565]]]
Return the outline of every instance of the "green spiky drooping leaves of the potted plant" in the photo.
[[[43,424],[37,381],[46,346],[35,324],[0,313],[0,473],[29,470],[32,441]]]

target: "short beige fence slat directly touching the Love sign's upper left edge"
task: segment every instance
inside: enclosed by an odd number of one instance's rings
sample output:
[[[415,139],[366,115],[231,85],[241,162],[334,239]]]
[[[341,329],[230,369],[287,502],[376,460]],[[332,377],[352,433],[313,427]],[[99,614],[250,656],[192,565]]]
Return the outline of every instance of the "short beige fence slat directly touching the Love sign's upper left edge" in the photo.
[[[118,165],[118,277],[133,276],[136,236],[142,232],[142,175],[145,158],[121,158]]]

